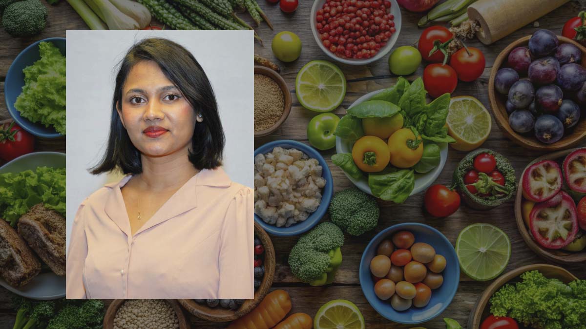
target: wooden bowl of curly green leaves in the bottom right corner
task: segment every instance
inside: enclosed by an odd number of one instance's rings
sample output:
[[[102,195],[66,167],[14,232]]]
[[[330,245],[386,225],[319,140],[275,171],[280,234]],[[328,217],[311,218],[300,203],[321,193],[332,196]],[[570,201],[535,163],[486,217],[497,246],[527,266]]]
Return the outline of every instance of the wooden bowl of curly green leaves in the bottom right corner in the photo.
[[[482,321],[490,315],[489,300],[496,290],[512,280],[519,280],[519,276],[530,270],[539,270],[548,279],[558,279],[564,283],[569,283],[578,278],[567,270],[554,265],[533,264],[522,266],[498,277],[490,286],[488,286],[482,295],[476,301],[474,309],[468,318],[468,329],[478,329]]]

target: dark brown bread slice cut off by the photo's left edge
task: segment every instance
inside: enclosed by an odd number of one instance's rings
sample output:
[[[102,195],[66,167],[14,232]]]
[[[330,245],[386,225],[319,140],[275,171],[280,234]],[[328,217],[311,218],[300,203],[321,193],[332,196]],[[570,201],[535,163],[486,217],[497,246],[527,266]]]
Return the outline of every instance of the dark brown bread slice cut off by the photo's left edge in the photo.
[[[40,262],[8,222],[0,218],[0,275],[9,285],[22,287],[40,272]]]

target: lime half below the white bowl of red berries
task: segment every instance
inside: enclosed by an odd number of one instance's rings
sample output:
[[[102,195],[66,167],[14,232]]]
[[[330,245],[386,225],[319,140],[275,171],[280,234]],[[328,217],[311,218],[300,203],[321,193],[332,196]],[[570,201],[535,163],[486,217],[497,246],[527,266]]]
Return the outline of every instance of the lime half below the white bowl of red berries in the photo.
[[[297,73],[295,93],[304,108],[329,112],[342,103],[346,78],[342,70],[329,61],[313,60]]]

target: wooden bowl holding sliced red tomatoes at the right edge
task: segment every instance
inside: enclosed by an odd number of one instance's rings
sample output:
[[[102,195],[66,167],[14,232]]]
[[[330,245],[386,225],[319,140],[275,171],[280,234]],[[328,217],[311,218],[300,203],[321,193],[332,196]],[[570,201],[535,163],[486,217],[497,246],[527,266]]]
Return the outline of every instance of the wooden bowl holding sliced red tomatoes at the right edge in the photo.
[[[546,249],[546,248],[543,248],[542,246],[540,246],[539,244],[537,244],[537,242],[535,242],[535,239],[533,238],[533,234],[531,234],[531,232],[527,229],[527,227],[525,225],[525,221],[523,220],[523,210],[521,207],[521,204],[523,202],[523,175],[525,173],[525,170],[527,170],[527,168],[529,168],[529,166],[533,165],[533,163],[536,163],[541,160],[554,160],[554,161],[556,161],[560,158],[567,156],[571,152],[574,152],[574,150],[577,150],[577,149],[558,151],[558,152],[554,152],[554,153],[550,153],[548,155],[538,157],[537,159],[533,160],[523,170],[523,173],[521,174],[521,178],[519,179],[519,186],[517,186],[517,196],[515,198],[515,219],[517,221],[517,227],[519,228],[519,232],[520,232],[521,236],[523,237],[523,239],[525,240],[525,242],[527,243],[527,245],[529,246],[529,248],[531,248],[541,258],[546,259],[546,261],[550,261],[550,262],[554,262],[554,263],[570,264],[570,263],[586,262],[586,249],[584,249],[580,252],[569,252],[569,251],[564,251],[561,249],[557,249],[557,250]]]

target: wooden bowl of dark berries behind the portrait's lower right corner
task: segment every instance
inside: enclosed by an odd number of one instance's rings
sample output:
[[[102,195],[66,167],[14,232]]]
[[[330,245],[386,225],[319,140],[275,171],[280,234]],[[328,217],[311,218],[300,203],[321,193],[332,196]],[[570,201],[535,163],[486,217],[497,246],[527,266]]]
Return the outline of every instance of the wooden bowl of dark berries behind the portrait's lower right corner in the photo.
[[[271,238],[268,237],[267,232],[265,232],[264,229],[257,224],[257,222],[254,222],[254,235],[256,235],[260,241],[263,242],[263,264],[265,270],[263,282],[261,282],[260,287],[258,287],[258,290],[254,293],[254,299],[247,299],[237,310],[224,309],[221,306],[212,308],[208,307],[206,304],[196,303],[196,301],[193,299],[178,299],[179,303],[185,307],[189,313],[207,321],[234,321],[253,310],[255,307],[257,307],[258,303],[264,299],[264,296],[267,294],[268,289],[270,289],[272,285],[272,279],[275,275],[275,249],[272,246]]]

